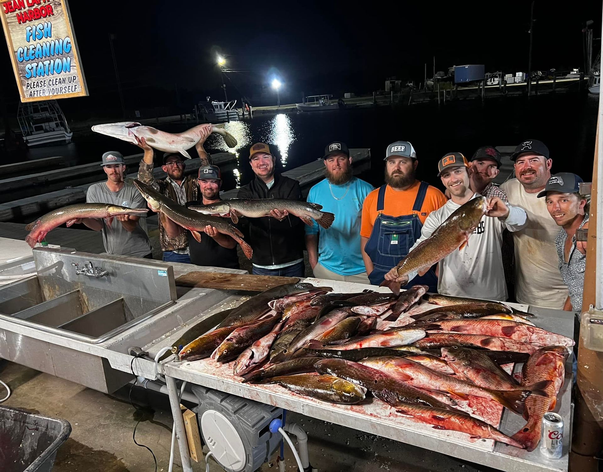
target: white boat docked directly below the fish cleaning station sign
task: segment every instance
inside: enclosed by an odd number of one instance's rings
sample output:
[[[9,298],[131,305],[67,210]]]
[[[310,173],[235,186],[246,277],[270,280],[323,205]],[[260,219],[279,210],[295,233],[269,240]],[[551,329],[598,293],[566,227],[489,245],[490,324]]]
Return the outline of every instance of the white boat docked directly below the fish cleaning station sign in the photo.
[[[70,143],[73,136],[56,100],[19,104],[17,121],[28,146],[53,142]]]

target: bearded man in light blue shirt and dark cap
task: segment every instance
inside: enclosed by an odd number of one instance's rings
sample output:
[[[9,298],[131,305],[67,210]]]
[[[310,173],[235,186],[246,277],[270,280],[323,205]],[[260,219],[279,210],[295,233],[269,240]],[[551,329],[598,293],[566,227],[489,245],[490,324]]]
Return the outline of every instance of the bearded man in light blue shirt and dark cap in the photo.
[[[362,203],[373,186],[352,175],[346,143],[329,143],[323,159],[326,178],[310,189],[308,201],[334,213],[335,221],[328,229],[315,221],[306,226],[306,250],[314,277],[368,285],[360,251],[360,223]]]

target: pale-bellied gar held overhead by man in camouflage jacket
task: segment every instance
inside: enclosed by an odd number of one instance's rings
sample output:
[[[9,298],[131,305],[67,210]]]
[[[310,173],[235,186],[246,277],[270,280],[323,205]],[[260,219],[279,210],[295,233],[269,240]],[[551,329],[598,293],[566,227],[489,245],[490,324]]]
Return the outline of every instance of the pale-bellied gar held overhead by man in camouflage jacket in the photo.
[[[107,123],[104,125],[94,125],[92,131],[95,133],[105,134],[106,136],[116,137],[123,141],[132,144],[137,144],[136,137],[144,137],[148,145],[159,151],[169,153],[180,153],[183,156],[191,159],[186,149],[192,148],[200,139],[199,131],[204,125],[197,125],[190,130],[182,133],[166,133],[165,131],[156,130],[150,126],[141,125],[135,121],[124,121],[119,123]],[[212,133],[218,133],[224,137],[224,141],[229,148],[235,148],[237,145],[236,139],[232,134],[224,129],[224,124],[212,125]]]

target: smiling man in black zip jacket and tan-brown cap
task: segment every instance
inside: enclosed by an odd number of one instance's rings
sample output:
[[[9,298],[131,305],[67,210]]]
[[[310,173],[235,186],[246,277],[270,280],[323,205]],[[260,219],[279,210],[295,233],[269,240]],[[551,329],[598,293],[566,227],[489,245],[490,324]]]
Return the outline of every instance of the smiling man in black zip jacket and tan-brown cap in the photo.
[[[249,151],[251,169],[256,178],[239,189],[238,198],[285,198],[301,200],[297,180],[275,174],[276,159],[267,144],[256,143]],[[273,210],[272,216],[248,219],[245,240],[253,248],[253,273],[304,277],[303,222],[289,213]]]

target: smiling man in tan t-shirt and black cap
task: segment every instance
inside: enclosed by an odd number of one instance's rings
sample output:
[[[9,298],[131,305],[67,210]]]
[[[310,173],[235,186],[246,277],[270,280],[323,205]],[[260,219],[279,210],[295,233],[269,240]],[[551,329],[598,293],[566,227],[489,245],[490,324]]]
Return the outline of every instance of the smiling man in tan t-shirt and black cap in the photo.
[[[519,303],[563,310],[567,286],[557,265],[555,238],[559,227],[542,198],[538,198],[551,177],[549,149],[537,140],[522,142],[511,156],[516,178],[500,186],[509,203],[528,213],[528,224],[513,233],[515,243],[515,298]]]

